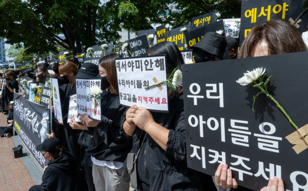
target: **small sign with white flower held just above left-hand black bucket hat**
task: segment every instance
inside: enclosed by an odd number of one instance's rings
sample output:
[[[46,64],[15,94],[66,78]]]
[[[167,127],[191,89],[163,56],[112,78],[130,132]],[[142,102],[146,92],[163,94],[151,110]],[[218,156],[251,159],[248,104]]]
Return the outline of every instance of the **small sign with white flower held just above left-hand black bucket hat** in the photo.
[[[99,65],[99,61],[101,58],[103,58],[103,56],[112,51],[112,47],[113,45],[108,45],[108,48],[106,49],[106,51],[102,50],[102,47],[100,45],[95,45],[95,46],[91,46],[90,48],[92,48],[92,54],[90,54],[89,52],[85,53],[85,61],[84,63],[93,63],[96,65]]]

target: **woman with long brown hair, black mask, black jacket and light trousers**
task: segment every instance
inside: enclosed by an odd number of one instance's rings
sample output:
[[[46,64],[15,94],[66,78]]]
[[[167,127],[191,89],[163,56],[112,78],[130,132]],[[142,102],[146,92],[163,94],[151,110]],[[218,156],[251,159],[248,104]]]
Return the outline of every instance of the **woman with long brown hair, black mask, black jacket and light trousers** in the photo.
[[[123,168],[123,162],[131,149],[131,140],[120,127],[126,108],[120,106],[116,58],[121,56],[111,53],[99,61],[101,88],[107,90],[101,94],[102,122],[92,120],[88,114],[80,117],[81,122],[93,134],[93,142],[86,149],[86,154],[91,156],[93,162],[92,175],[96,190],[129,190],[129,175]]]

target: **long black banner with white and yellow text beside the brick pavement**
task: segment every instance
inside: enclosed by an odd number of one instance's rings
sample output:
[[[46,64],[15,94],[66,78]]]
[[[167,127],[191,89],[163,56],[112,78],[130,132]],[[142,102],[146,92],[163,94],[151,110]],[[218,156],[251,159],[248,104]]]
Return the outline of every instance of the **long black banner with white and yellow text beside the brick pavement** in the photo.
[[[43,169],[48,160],[36,146],[42,144],[51,132],[49,110],[47,107],[23,98],[23,95],[14,93],[14,129],[23,143],[30,150],[31,155]]]

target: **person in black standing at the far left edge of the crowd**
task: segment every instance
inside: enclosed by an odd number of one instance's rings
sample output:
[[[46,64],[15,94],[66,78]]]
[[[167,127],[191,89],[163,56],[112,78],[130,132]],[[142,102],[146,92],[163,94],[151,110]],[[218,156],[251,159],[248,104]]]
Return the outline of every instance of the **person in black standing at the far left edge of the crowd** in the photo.
[[[2,108],[4,111],[8,111],[7,108],[9,107],[10,102],[14,98],[13,91],[15,89],[15,92],[18,93],[18,82],[16,81],[17,75],[15,75],[12,71],[6,71],[6,78],[3,85],[5,86],[2,91]],[[8,114],[6,112],[5,114]]]

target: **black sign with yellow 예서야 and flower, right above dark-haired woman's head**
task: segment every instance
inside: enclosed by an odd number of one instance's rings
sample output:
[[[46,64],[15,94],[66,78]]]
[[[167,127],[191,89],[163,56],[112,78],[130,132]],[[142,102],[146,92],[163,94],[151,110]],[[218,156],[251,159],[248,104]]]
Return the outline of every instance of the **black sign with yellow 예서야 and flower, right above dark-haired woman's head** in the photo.
[[[184,29],[185,31],[181,31]],[[189,31],[190,31],[190,24],[182,26],[182,27],[178,27],[178,28],[166,31],[165,39],[166,41],[176,44],[180,50],[184,50],[186,49],[185,48],[185,33]]]

